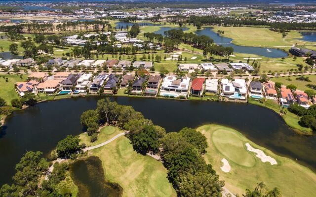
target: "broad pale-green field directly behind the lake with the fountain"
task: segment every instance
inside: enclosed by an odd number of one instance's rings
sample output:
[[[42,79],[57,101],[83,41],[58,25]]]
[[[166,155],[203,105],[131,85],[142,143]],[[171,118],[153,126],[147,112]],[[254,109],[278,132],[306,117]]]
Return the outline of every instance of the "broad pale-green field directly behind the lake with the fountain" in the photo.
[[[213,31],[224,31],[225,37],[234,39],[233,43],[241,46],[259,46],[274,47],[292,46],[296,43],[307,43],[297,38],[301,38],[301,33],[291,31],[285,38],[282,33],[269,30],[269,28],[252,28],[252,27],[214,27]],[[247,36],[245,36],[247,35]]]

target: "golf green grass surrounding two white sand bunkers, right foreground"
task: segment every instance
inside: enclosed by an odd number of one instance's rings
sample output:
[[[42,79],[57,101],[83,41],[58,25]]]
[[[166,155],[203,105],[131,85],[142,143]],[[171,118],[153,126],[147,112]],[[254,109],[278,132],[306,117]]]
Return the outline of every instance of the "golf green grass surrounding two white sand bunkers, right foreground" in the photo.
[[[238,131],[219,125],[199,127],[208,142],[204,158],[212,164],[225,186],[234,194],[243,194],[258,182],[265,182],[269,189],[277,187],[284,197],[312,197],[316,193],[316,174],[307,167],[291,159],[277,156],[248,140]],[[264,151],[274,158],[276,165],[263,163],[254,153],[247,150],[245,143]],[[221,160],[225,158],[231,165],[230,172],[221,170]]]

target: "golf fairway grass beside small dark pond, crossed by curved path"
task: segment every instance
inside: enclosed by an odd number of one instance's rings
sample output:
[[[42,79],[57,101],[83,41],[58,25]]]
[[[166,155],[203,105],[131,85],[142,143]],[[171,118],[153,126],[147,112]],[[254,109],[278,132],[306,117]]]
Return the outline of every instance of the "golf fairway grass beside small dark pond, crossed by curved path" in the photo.
[[[115,127],[101,130],[95,144],[102,143],[123,132]],[[89,137],[80,134],[86,143]],[[104,140],[104,141],[103,141]],[[102,161],[105,176],[123,188],[123,197],[175,197],[175,190],[168,182],[167,170],[161,162],[150,156],[143,156],[133,150],[125,136],[91,151]]]

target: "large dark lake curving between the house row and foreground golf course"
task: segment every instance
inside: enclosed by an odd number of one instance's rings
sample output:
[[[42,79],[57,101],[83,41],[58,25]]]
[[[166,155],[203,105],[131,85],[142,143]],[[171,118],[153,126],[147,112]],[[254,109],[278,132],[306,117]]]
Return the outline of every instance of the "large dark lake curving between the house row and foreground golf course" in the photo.
[[[81,113],[94,109],[100,98],[93,96],[42,102],[9,116],[0,133],[0,185],[11,181],[15,164],[27,151],[41,151],[48,155],[58,141],[69,134],[81,133]],[[254,143],[280,156],[297,159],[297,162],[316,171],[316,135],[296,134],[278,114],[267,108],[233,102],[110,98],[119,104],[133,106],[168,132],[209,123],[232,127]]]

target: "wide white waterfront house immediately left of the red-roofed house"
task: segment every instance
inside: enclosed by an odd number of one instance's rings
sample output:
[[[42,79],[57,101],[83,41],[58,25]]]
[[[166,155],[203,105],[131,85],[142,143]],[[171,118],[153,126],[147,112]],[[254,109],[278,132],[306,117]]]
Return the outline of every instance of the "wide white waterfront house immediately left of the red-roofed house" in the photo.
[[[161,84],[160,96],[163,97],[187,97],[190,87],[190,77],[177,79],[175,76],[166,76]]]

